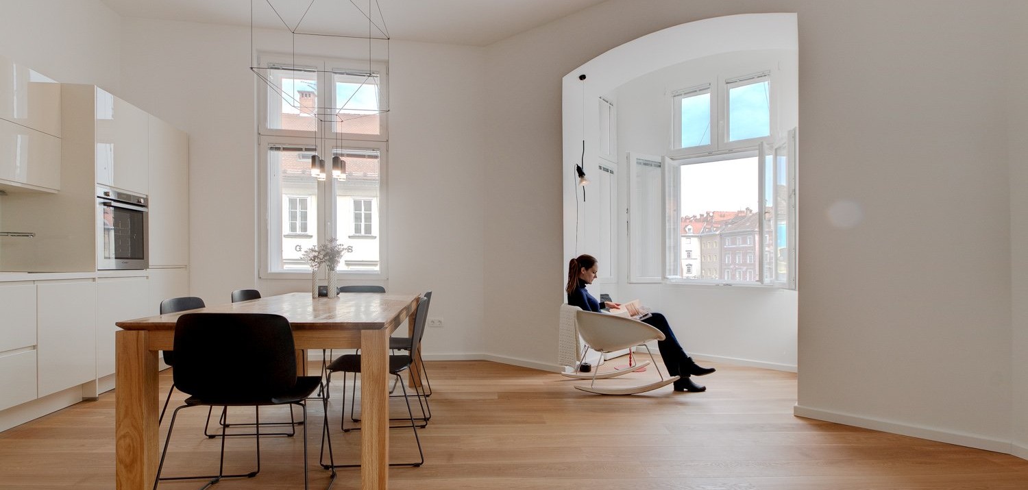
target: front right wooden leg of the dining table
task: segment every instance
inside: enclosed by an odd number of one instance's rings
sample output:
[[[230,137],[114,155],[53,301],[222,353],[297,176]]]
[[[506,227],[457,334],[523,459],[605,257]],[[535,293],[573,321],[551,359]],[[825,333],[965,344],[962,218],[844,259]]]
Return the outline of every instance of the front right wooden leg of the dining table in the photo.
[[[361,331],[361,488],[389,488],[389,331]]]

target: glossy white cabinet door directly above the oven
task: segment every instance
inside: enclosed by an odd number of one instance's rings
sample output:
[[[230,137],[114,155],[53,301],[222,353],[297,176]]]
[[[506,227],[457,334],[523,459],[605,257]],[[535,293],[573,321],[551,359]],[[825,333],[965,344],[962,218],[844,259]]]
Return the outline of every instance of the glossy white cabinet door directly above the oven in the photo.
[[[96,89],[97,183],[148,194],[149,114]]]

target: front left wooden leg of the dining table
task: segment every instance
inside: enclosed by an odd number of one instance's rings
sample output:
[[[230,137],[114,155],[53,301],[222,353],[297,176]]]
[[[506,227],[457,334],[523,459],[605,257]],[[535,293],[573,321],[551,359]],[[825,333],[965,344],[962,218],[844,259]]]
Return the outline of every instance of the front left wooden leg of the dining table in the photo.
[[[149,332],[115,332],[115,483],[117,490],[153,488],[157,474],[157,352]]]

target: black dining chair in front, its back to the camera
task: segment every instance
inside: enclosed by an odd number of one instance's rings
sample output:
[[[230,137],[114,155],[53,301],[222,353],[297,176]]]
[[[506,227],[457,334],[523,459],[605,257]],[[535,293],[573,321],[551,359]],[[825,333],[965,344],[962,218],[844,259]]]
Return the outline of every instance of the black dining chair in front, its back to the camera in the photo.
[[[179,411],[187,407],[300,407],[306,421],[304,400],[321,384],[320,376],[297,376],[293,331],[286,317],[266,313],[186,313],[175,326],[176,360],[174,378],[179,390],[189,394],[184,405],[172,413],[168,439],[160,454],[156,490],[161,481],[211,479],[208,486],[223,478],[253,478],[260,473],[260,426],[256,436],[257,469],[225,475],[225,440],[221,438],[221,460],[217,475],[164,477],[160,474]],[[260,363],[250,362],[254,359]],[[327,403],[323,401],[327,412]],[[292,409],[290,409],[292,410]],[[260,422],[259,413],[257,422]],[[326,423],[328,420],[326,419]],[[303,430],[303,488],[308,488],[306,424]],[[222,427],[222,432],[224,432]],[[205,487],[206,488],[206,487]]]

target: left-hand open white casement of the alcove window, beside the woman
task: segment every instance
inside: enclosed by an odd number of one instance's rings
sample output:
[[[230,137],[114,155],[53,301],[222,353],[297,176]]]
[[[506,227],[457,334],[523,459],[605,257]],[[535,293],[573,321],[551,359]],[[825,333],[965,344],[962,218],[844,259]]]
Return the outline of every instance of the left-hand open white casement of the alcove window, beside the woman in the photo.
[[[628,153],[628,281],[664,275],[664,192],[661,157]]]

